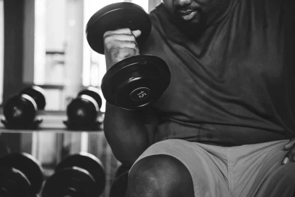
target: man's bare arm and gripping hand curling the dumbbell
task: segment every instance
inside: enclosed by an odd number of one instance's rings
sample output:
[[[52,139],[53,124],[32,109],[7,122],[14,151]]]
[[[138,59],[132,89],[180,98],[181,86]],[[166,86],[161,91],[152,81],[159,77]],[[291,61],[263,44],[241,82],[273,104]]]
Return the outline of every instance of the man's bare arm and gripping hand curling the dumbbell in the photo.
[[[107,69],[119,61],[140,55],[136,42],[140,31],[130,29],[109,31],[104,34],[104,52]],[[106,105],[104,132],[115,157],[131,165],[152,143],[157,127],[157,116],[151,108],[129,111]]]

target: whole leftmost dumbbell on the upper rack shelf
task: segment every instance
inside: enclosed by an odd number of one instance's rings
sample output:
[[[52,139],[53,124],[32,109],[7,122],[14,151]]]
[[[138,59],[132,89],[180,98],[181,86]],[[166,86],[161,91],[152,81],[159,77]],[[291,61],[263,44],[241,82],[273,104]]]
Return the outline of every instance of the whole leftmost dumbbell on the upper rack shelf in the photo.
[[[12,96],[3,106],[5,120],[2,123],[8,128],[26,129],[35,122],[37,110],[43,110],[46,105],[44,90],[32,86],[22,90],[18,95]]]

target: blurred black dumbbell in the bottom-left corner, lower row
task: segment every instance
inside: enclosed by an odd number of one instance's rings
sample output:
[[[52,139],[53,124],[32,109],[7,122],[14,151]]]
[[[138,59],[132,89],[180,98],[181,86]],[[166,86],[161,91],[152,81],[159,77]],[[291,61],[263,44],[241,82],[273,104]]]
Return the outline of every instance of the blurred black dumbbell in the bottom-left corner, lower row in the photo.
[[[43,169],[28,153],[0,158],[0,197],[36,197],[43,184]]]

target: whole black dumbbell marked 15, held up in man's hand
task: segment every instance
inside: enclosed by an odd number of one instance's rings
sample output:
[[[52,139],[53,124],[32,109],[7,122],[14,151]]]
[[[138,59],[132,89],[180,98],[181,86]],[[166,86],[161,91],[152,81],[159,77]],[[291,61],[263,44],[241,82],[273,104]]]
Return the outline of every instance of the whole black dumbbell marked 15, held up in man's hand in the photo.
[[[113,3],[98,10],[86,26],[91,49],[104,54],[103,35],[107,31],[129,28],[140,30],[137,43],[142,46],[151,32],[151,21],[145,10],[135,3]],[[104,75],[101,90],[112,105],[137,110],[159,99],[170,83],[169,67],[161,58],[138,55],[112,66]]]

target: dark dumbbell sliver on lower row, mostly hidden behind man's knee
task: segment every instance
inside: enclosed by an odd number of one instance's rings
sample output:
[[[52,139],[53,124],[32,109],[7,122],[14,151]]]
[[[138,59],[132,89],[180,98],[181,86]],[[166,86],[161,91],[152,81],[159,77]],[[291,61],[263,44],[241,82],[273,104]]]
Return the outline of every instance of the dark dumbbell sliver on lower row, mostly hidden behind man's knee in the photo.
[[[115,181],[110,190],[110,197],[125,197],[130,167],[120,165],[115,173]]]

